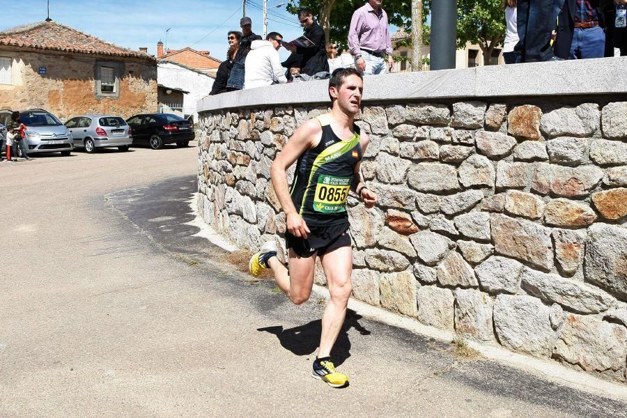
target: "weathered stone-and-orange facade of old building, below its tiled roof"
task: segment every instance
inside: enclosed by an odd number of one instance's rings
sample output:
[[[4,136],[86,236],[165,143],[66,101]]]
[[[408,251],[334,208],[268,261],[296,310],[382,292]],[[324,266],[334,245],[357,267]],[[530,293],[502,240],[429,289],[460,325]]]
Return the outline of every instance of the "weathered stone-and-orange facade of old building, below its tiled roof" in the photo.
[[[118,98],[98,98],[95,65],[98,57],[16,52],[0,49],[13,59],[11,84],[0,84],[0,108],[46,109],[66,120],[79,114],[116,114],[124,118],[157,111],[157,63],[102,56],[123,68]],[[40,75],[39,68],[46,74]]]

